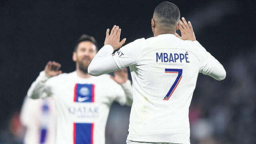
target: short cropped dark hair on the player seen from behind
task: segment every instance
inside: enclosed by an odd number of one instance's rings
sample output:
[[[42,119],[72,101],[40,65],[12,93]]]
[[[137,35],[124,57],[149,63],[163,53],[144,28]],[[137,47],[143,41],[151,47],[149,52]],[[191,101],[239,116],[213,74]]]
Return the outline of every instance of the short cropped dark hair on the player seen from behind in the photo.
[[[176,26],[180,20],[180,10],[171,2],[162,2],[156,6],[154,16],[164,26]]]

